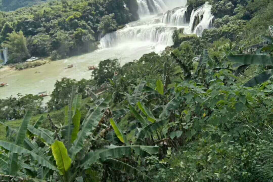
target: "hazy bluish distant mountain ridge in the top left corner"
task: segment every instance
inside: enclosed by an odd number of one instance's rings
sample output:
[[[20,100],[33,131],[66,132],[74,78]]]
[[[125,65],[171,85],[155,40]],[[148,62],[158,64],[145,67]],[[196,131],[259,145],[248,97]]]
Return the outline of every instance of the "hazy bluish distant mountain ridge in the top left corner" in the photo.
[[[0,0],[1,11],[14,11],[18,8],[38,5],[51,0]]]

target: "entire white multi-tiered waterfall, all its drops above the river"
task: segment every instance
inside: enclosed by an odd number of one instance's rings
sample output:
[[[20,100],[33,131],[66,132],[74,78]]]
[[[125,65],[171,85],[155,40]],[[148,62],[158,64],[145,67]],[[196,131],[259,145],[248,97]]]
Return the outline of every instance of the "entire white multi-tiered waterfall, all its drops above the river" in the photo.
[[[194,9],[191,12],[190,21],[187,22],[187,7],[181,6],[181,4],[185,5],[185,0],[137,0],[137,2],[140,17],[150,15],[151,12],[164,12],[168,7],[174,6],[175,2],[180,2],[180,4],[177,3],[180,6],[165,11],[163,16],[158,15],[152,18],[149,16],[149,19],[140,19],[127,24],[123,29],[106,34],[100,40],[99,48],[110,48],[124,45],[124,43],[143,45],[143,43],[136,42],[152,42],[153,45],[166,47],[173,45],[172,35],[175,29],[184,28],[185,34],[195,33],[201,36],[204,29],[212,27],[214,16],[211,14],[211,5],[207,3]]]

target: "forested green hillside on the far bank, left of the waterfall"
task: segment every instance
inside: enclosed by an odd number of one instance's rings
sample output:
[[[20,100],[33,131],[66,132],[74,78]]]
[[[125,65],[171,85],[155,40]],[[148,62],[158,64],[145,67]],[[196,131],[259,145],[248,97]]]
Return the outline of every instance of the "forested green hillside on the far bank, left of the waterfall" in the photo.
[[[101,34],[139,18],[137,8],[136,0],[62,0],[0,12],[0,42],[9,48],[9,63],[63,59],[97,49]]]

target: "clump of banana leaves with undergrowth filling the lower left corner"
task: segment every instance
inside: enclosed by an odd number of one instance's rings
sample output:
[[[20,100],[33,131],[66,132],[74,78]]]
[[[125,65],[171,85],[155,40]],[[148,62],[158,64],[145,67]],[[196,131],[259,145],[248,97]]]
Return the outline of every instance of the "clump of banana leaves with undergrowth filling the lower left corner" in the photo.
[[[73,87],[71,102],[65,108],[64,125],[55,125],[49,119],[54,132],[39,127],[43,123],[43,117],[34,126],[29,125],[31,111],[27,111],[18,131],[7,126],[12,131],[11,134],[16,135],[11,142],[0,141],[0,146],[5,149],[0,156],[2,173],[31,177],[34,181],[54,178],[70,182],[78,181],[78,176],[82,176],[82,180],[89,179],[88,173],[94,165],[102,164],[103,178],[106,179],[111,172],[109,167],[147,177],[137,168],[137,162],[133,163],[134,157],[156,154],[159,147],[130,144],[113,120],[116,115],[120,117],[120,112],[112,113],[109,110],[109,97],[94,99],[88,114],[80,123],[82,97],[75,93],[76,88]],[[111,128],[123,143],[120,146],[109,146],[114,138],[110,141],[103,140]],[[131,160],[131,163],[125,163],[126,160]]]

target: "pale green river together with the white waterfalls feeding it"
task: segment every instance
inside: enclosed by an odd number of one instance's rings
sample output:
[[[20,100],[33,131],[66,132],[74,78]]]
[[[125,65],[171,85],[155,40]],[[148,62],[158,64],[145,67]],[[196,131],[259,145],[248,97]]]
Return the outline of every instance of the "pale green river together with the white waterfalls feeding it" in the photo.
[[[150,7],[147,1],[153,2]],[[140,20],[131,22],[124,29],[105,35],[100,40],[98,50],[53,61],[43,66],[22,71],[1,71],[0,83],[9,86],[0,88],[0,98],[16,96],[18,93],[38,94],[42,91],[52,92],[56,80],[63,77],[71,79],[90,79],[92,71],[87,66],[97,66],[105,59],[119,59],[120,64],[139,59],[150,52],[160,53],[166,46],[173,44],[172,34],[177,28],[184,28],[186,33],[201,35],[204,29],[211,27],[213,16],[210,5],[203,5],[191,12],[190,22],[185,22],[186,0],[137,0]],[[179,8],[175,8],[179,7]],[[175,8],[172,11],[168,11]],[[154,15],[150,15],[153,11]],[[157,16],[158,13],[165,13]],[[196,24],[196,19],[199,23]],[[73,64],[74,68],[64,69]],[[38,73],[36,73],[38,72]],[[49,97],[45,98],[45,102]]]

